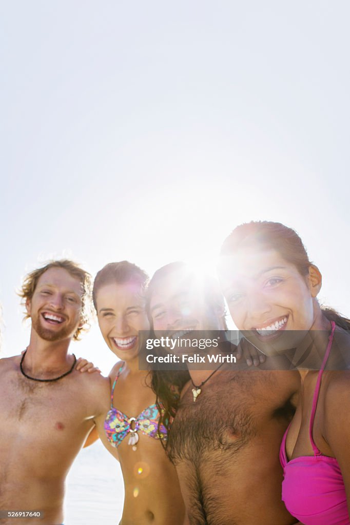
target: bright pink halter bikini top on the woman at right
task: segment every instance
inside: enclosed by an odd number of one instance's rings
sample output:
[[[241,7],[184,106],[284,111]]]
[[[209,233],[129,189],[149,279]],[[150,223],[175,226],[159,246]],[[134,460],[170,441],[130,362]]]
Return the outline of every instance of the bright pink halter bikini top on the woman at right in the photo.
[[[335,322],[328,340],[326,353],[313,397],[309,436],[313,456],[300,456],[288,461],[285,442],[289,427],[283,436],[280,461],[283,467],[282,500],[287,510],[304,525],[350,525],[346,493],[341,469],[335,458],[323,456],[316,447],[312,430],[321,379],[332,348]]]

